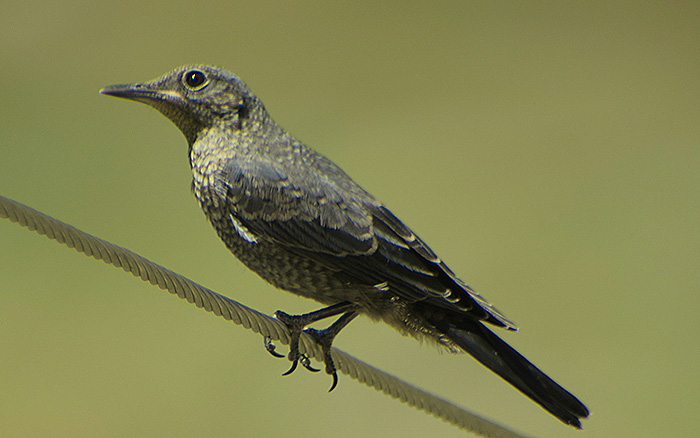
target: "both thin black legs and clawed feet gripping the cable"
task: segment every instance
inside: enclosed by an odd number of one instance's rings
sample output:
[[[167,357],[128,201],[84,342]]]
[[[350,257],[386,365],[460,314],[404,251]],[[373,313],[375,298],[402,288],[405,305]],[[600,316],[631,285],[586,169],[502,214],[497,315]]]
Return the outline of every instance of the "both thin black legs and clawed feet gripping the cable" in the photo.
[[[325,330],[313,330],[308,329],[309,334],[314,336],[316,341],[321,345],[324,355],[324,363],[326,364],[326,372],[333,375],[333,388],[337,383],[337,374],[335,373],[335,365],[333,364],[333,359],[330,356],[330,347],[333,342],[333,338],[340,332],[340,330],[345,327],[352,319],[357,315],[356,312],[357,305],[350,302],[342,302],[334,304],[329,307],[317,310],[315,312],[305,313],[303,315],[289,315],[288,313],[278,310],[275,312],[275,318],[287,326],[289,330],[289,355],[287,356],[292,362],[291,368],[283,375],[289,375],[297,368],[297,365],[301,365],[309,371],[319,371],[311,367],[311,361],[306,355],[299,352],[299,337],[304,328],[309,324],[313,324],[316,321],[322,319],[330,318],[341,313],[344,313],[335,323]],[[269,338],[265,338],[265,349],[275,357],[283,357],[279,353],[275,352],[275,345],[271,342]],[[331,389],[333,389],[331,388]]]

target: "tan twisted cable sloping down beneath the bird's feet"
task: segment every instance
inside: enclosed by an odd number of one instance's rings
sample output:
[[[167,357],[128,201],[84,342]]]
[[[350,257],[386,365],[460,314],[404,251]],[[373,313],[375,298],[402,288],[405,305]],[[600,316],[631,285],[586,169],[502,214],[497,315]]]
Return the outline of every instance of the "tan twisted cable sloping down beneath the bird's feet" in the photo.
[[[228,321],[289,344],[286,327],[276,319],[227,298],[192,280],[166,269],[128,249],[114,245],[40,211],[0,196],[0,217],[73,248],[97,260],[122,268],[135,277],[167,290],[188,303],[221,316]],[[306,333],[299,343],[301,353],[323,360],[321,349]],[[385,373],[337,348],[332,349],[339,371],[384,394],[418,408],[464,430],[489,438],[525,438],[498,424],[468,412],[446,400]]]

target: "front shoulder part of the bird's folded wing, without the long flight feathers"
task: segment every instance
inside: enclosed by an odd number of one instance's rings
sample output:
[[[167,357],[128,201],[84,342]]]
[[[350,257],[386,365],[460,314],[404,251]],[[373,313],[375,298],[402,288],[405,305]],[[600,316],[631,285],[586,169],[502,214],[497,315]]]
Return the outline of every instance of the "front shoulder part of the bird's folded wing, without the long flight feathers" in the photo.
[[[278,163],[247,160],[227,163],[219,179],[229,219],[250,241],[261,238],[336,257],[376,250],[372,217],[362,200],[343,196],[323,174],[300,176]]]

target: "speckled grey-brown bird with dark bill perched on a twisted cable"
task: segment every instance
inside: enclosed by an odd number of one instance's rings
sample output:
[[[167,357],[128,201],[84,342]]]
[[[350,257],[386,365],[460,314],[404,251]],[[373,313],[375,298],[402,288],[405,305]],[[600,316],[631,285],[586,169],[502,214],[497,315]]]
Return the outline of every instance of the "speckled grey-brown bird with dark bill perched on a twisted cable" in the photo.
[[[333,390],[333,340],[363,314],[470,354],[563,423],[582,427],[588,408],[487,327],[516,325],[338,165],[278,125],[238,76],[187,65],[100,92],[170,119],[188,143],[192,191],[228,249],[276,288],[325,306],[275,312],[291,339],[285,374],[299,363],[319,371],[299,352],[306,332],[323,351]],[[338,315],[326,329],[307,327]],[[283,357],[267,338],[265,347]]]

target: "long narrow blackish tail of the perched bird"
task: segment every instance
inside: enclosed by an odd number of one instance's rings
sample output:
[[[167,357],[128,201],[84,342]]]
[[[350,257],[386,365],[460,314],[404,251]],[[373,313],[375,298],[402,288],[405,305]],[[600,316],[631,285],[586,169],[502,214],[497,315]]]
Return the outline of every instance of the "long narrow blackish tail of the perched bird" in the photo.
[[[462,350],[566,424],[581,428],[588,408],[540,371],[513,347],[471,318],[450,318],[425,312],[426,320]]]

